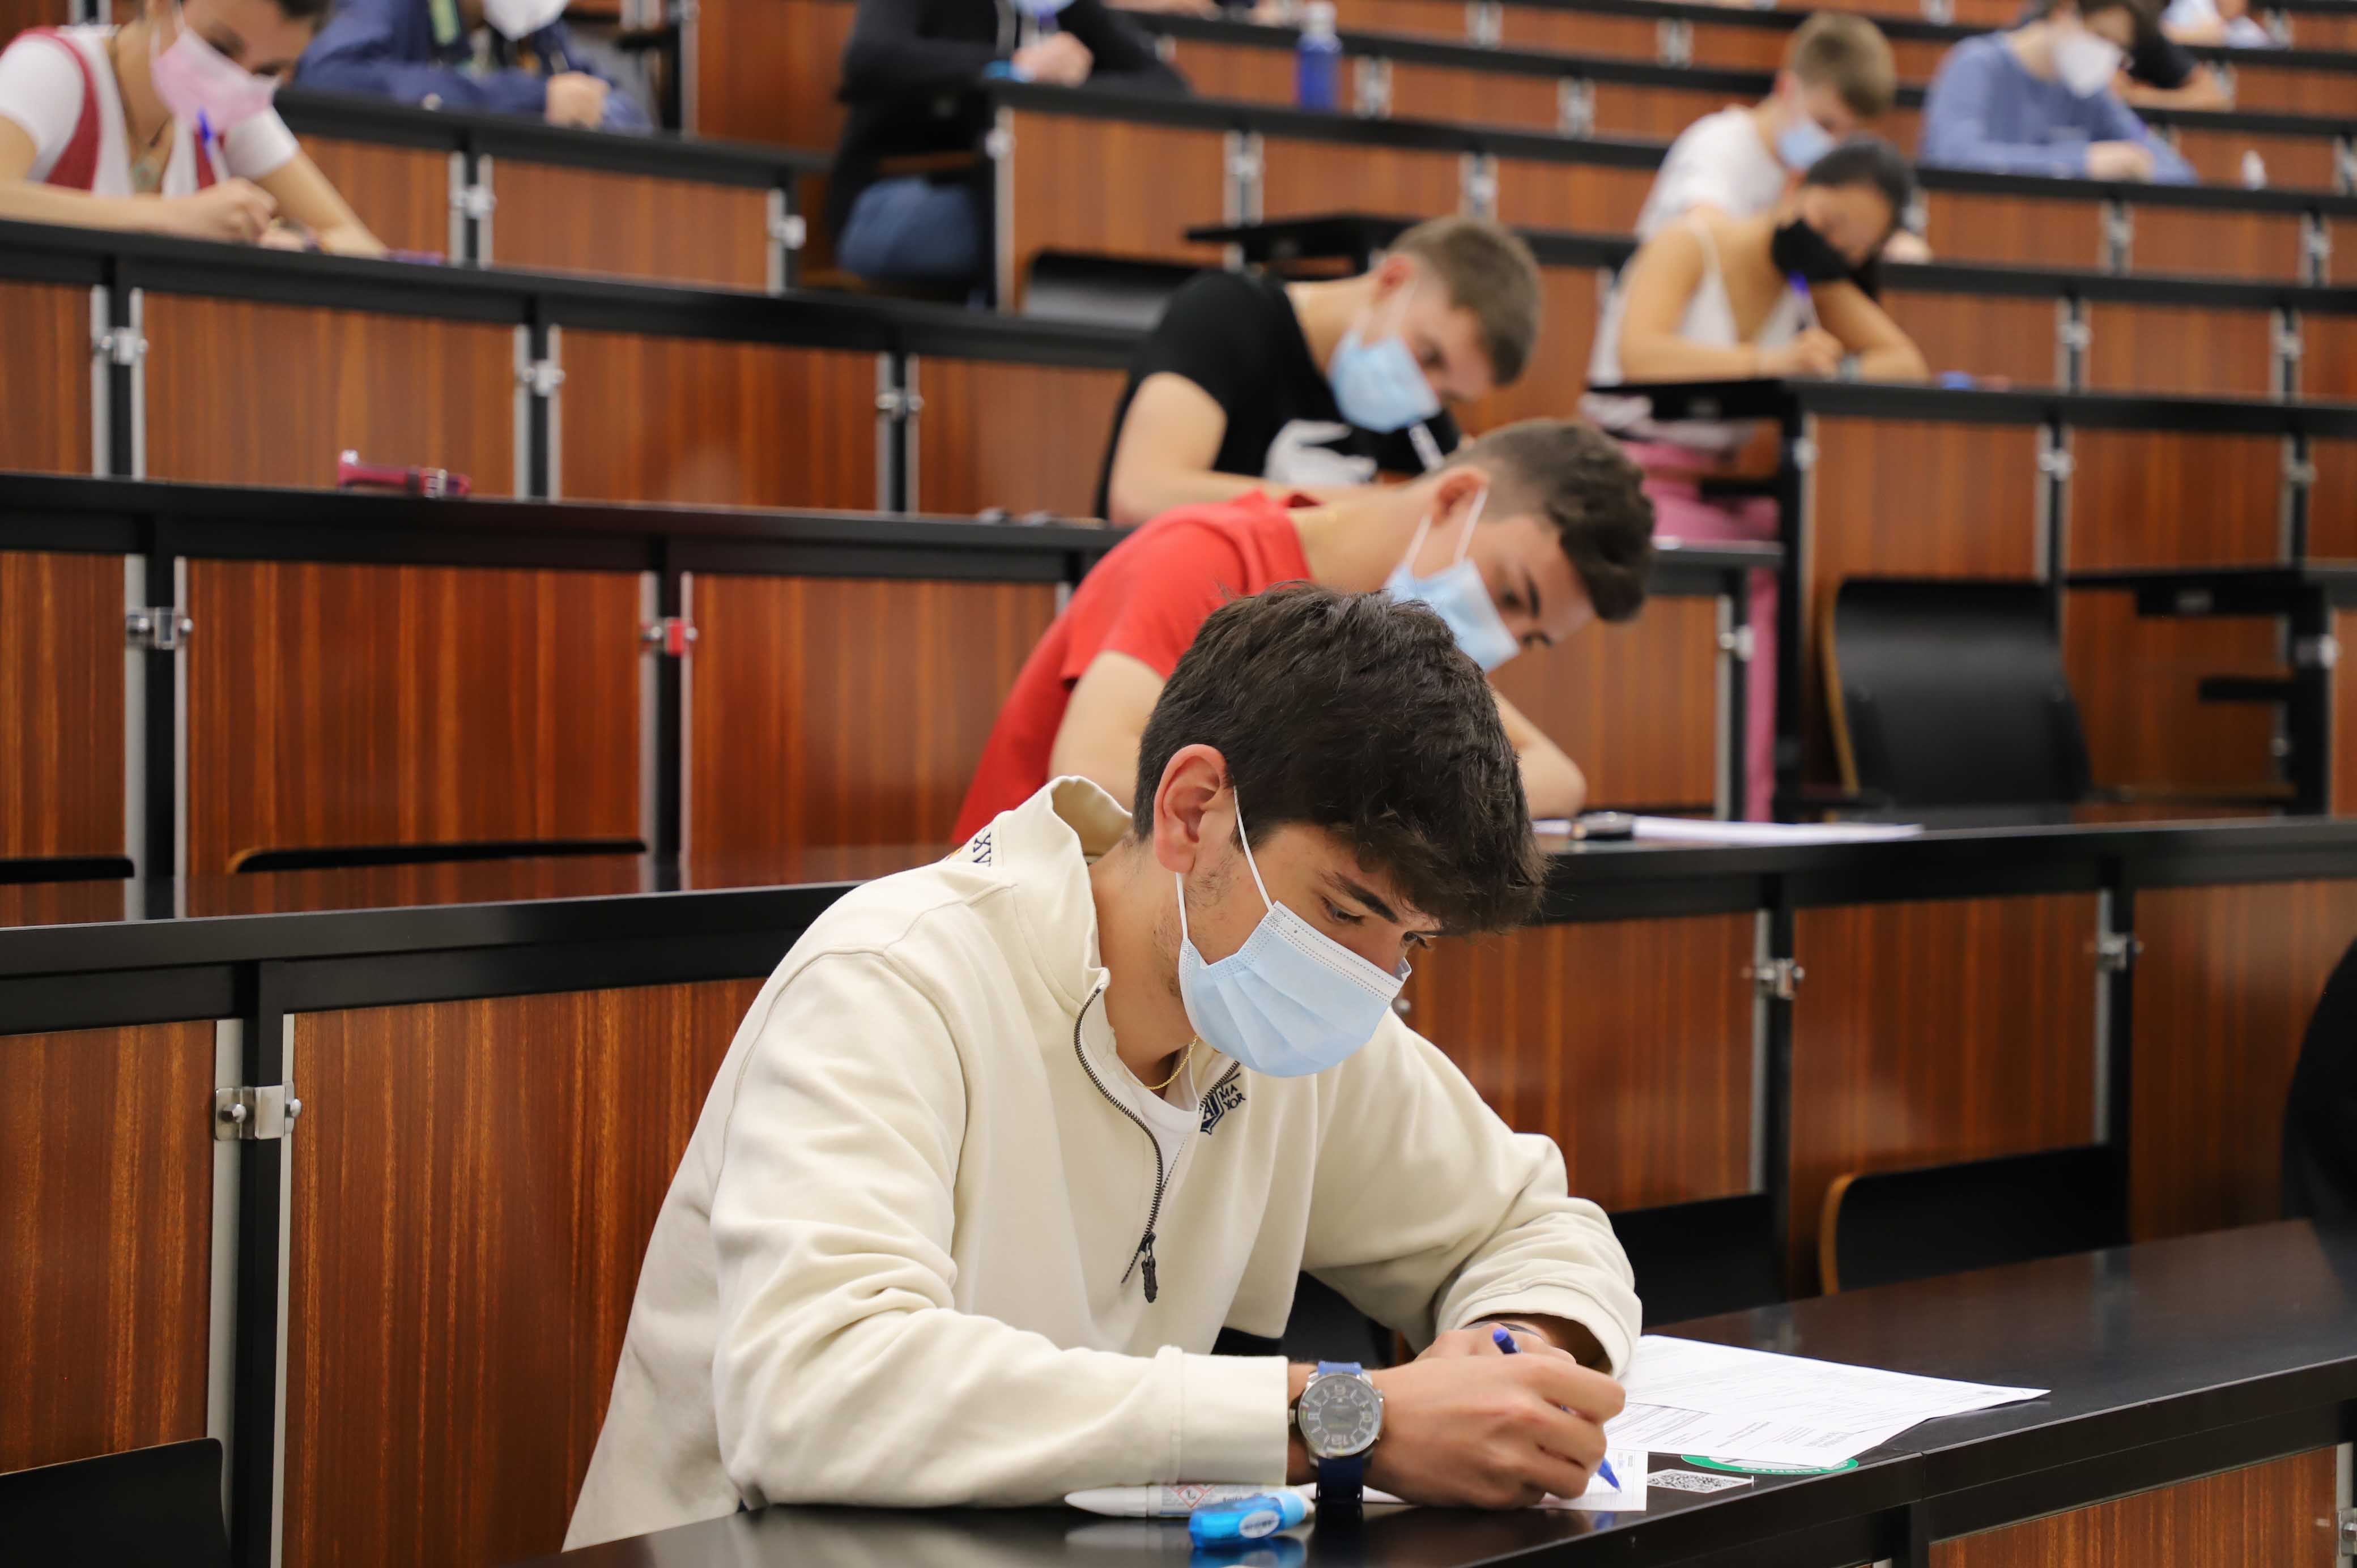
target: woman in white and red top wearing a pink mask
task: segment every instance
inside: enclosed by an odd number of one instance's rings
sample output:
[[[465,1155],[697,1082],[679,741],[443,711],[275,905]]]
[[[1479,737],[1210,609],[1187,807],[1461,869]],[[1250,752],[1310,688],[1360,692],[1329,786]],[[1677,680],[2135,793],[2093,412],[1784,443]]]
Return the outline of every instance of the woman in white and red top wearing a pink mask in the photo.
[[[384,255],[271,108],[328,0],[146,0],[0,52],[0,219]]]

